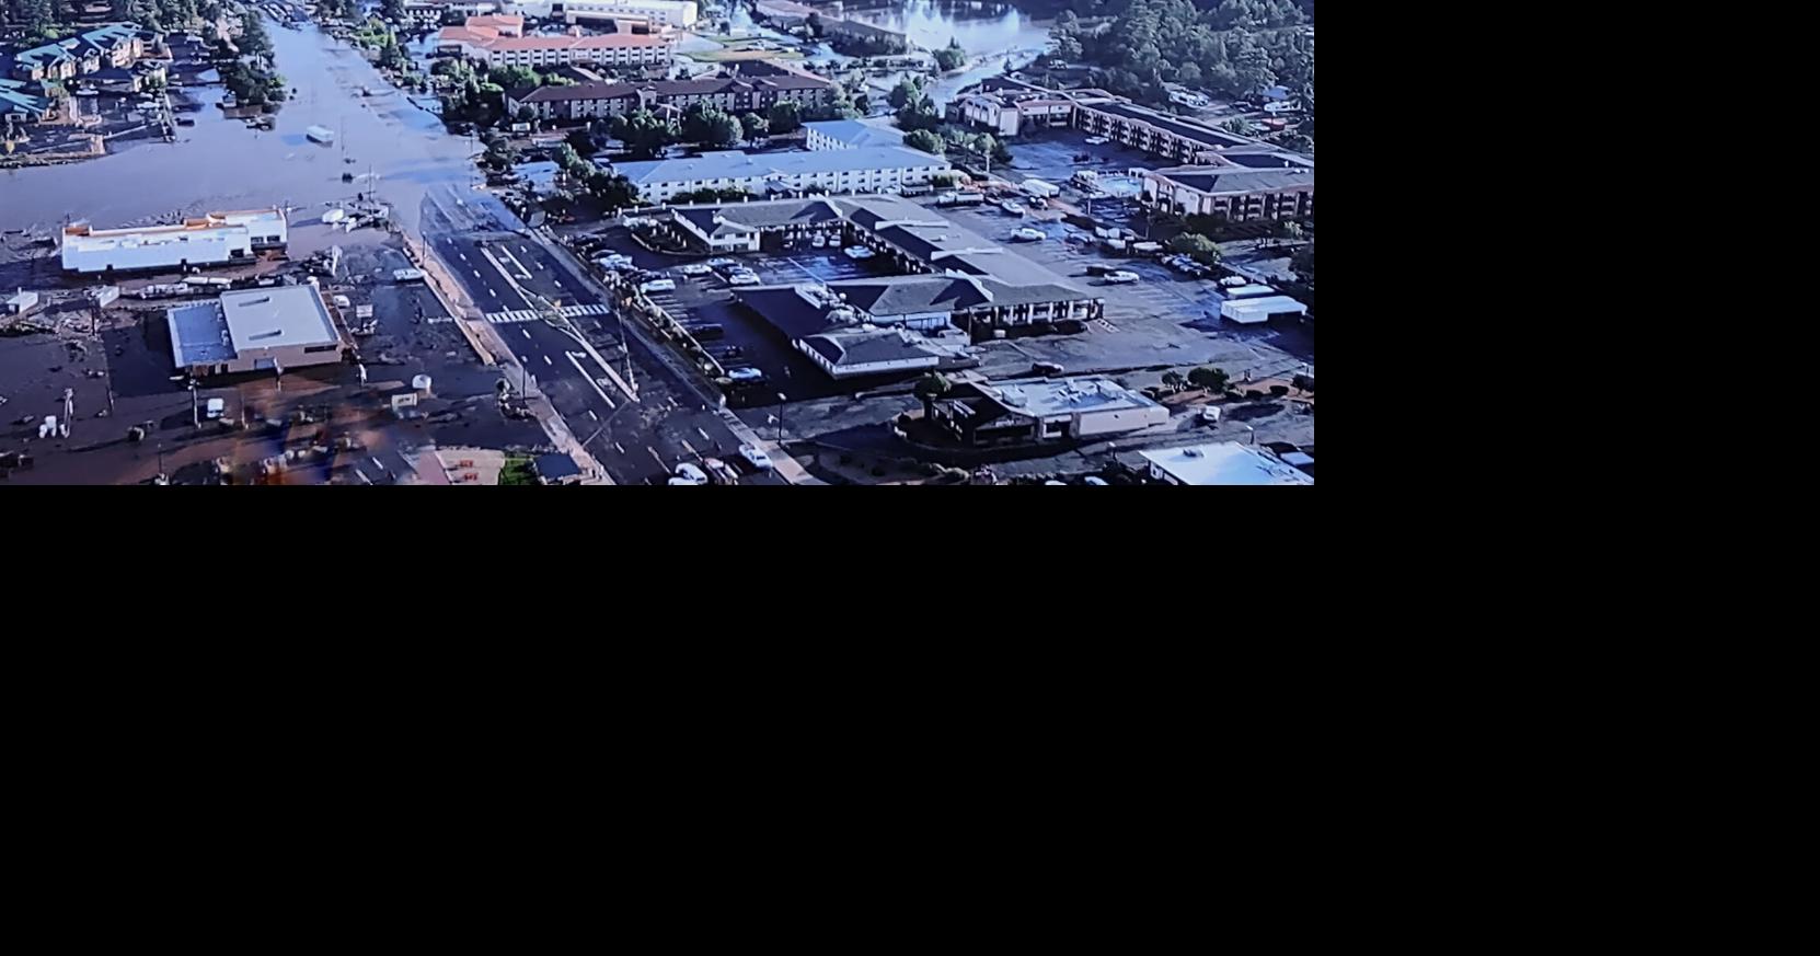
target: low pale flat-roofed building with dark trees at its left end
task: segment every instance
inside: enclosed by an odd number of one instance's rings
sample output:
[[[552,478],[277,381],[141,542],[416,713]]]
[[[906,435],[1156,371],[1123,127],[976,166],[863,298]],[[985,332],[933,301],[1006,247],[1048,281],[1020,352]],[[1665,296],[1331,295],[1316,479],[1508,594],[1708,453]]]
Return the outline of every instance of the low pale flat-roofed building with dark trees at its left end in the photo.
[[[972,446],[1105,439],[1168,422],[1167,408],[1099,375],[961,382],[930,402],[930,415]]]

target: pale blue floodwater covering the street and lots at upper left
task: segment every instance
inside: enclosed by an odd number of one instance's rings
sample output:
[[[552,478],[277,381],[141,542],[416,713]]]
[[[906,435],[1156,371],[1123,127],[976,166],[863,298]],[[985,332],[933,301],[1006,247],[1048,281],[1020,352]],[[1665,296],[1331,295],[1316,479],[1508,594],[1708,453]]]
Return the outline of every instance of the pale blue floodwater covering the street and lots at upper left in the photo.
[[[195,126],[177,127],[177,144],[122,144],[96,160],[0,171],[0,229],[55,231],[82,219],[116,228],[260,206],[295,206],[293,222],[306,222],[326,202],[373,193],[375,184],[393,215],[415,226],[424,189],[470,182],[471,142],[444,131],[348,44],[269,18],[266,31],[278,73],[297,89],[273,131],[226,118],[215,106],[226,95],[220,86],[184,87],[202,109],[187,113]],[[362,86],[373,97],[362,97]],[[335,146],[309,142],[309,126],[333,129]],[[342,182],[342,171],[355,182]]]

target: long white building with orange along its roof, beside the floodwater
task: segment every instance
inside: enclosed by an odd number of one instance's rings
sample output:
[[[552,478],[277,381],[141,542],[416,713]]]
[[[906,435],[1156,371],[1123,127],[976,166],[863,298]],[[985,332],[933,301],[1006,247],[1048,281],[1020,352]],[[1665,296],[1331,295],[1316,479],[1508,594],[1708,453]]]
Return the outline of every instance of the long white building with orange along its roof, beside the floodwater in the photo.
[[[73,273],[171,270],[249,262],[289,240],[282,209],[209,213],[177,226],[64,228],[64,270]]]

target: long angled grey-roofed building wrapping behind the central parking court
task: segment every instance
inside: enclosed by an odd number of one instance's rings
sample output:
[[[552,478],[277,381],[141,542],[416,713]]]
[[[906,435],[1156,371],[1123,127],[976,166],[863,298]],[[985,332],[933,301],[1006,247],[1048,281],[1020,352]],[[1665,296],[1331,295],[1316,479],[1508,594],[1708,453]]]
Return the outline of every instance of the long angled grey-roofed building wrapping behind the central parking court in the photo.
[[[835,246],[872,249],[881,264],[912,275],[826,288],[877,324],[932,328],[934,315],[946,313],[946,324],[977,337],[1010,326],[1090,322],[1105,311],[1103,299],[1003,242],[895,197],[679,206],[670,209],[670,219],[681,237],[712,253],[781,249],[815,235]]]

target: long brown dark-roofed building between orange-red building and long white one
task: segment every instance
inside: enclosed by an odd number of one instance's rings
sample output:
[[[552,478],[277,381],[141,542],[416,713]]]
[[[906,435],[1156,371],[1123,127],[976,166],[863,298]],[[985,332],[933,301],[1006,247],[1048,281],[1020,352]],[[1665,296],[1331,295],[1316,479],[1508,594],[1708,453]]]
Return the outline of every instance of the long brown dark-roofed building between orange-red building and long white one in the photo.
[[[832,82],[806,73],[779,71],[770,75],[741,73],[706,80],[539,86],[508,93],[506,109],[517,115],[521,107],[528,106],[544,120],[592,120],[637,113],[639,109],[682,111],[695,104],[713,106],[726,113],[764,113],[779,102],[815,107],[826,106],[832,100]]]

